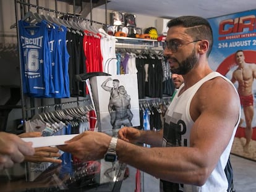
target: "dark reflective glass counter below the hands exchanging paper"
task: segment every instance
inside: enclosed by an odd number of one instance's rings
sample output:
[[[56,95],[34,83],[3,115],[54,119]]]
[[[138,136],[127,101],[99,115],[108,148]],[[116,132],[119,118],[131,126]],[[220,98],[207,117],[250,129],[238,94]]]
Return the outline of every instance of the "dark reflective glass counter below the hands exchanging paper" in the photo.
[[[0,191],[120,191],[126,164],[104,159],[81,162],[67,152],[61,159],[62,164],[26,162],[1,170]]]

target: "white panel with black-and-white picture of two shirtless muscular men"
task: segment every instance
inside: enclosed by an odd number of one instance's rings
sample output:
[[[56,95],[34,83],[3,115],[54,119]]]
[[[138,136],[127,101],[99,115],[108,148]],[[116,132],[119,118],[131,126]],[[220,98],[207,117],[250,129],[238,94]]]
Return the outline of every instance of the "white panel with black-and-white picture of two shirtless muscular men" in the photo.
[[[100,131],[140,125],[137,74],[90,78]]]

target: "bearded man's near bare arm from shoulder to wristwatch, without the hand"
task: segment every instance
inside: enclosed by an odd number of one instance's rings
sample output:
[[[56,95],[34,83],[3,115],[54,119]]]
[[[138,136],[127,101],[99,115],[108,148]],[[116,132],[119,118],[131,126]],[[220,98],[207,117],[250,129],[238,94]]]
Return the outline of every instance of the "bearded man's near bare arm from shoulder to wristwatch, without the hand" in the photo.
[[[192,100],[190,114],[195,123],[190,133],[190,147],[139,148],[118,140],[119,161],[170,182],[203,185],[239,119],[239,97],[233,86],[220,78],[214,81],[216,83],[204,83]]]

